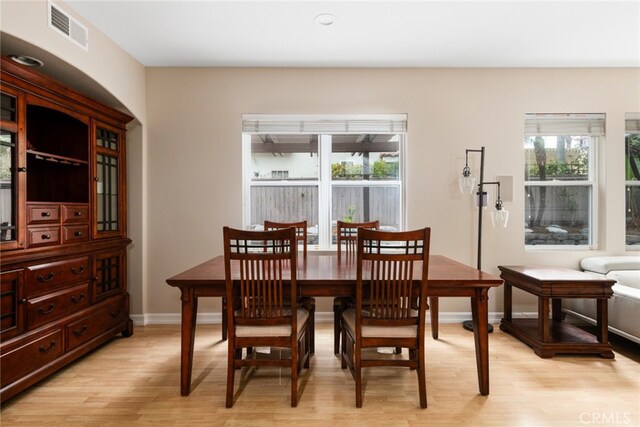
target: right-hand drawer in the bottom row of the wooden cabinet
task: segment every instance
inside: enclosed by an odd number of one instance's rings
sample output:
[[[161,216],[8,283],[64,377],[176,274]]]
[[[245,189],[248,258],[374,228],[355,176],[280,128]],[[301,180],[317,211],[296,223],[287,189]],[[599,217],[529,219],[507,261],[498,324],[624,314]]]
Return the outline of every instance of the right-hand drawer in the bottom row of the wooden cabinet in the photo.
[[[124,299],[118,298],[86,317],[68,324],[65,331],[67,349],[71,350],[90,341],[124,321],[125,318]]]

